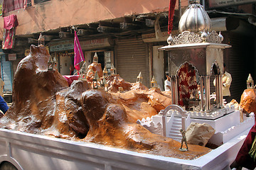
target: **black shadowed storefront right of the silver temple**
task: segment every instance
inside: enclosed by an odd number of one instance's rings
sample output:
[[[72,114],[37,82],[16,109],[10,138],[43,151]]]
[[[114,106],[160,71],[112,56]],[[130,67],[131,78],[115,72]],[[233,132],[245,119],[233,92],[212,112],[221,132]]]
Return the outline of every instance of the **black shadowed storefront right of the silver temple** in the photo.
[[[232,76],[230,93],[232,98],[240,102],[242,92],[247,89],[248,75],[252,74],[252,79],[255,80],[255,42],[254,38],[231,32],[228,34],[228,41],[232,47],[228,49],[224,62]]]

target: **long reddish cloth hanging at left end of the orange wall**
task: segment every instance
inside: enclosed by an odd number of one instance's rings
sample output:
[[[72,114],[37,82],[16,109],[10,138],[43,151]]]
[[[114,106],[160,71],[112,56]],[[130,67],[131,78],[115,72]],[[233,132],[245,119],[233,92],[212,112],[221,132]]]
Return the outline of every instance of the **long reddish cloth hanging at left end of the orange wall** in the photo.
[[[11,16],[4,17],[4,37],[2,42],[2,49],[7,50],[14,47],[14,35],[18,26],[17,16],[12,14]]]

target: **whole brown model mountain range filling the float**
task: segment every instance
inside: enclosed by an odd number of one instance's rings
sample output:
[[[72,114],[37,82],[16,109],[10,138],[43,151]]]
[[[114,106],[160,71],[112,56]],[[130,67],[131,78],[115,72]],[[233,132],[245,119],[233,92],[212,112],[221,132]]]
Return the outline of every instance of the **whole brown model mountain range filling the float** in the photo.
[[[137,90],[129,91],[132,84],[118,76],[110,77],[114,81],[110,84],[114,89],[127,88],[124,93],[92,90],[87,81],[80,80],[69,87],[60,73],[47,69],[49,57],[45,47],[32,45],[30,55],[18,64],[14,102],[0,119],[0,128],[183,159],[210,151],[190,145],[188,152],[180,152],[179,142],[154,135],[134,123],[138,118],[157,114],[171,103],[171,98],[161,91],[143,90],[140,84],[136,84]]]

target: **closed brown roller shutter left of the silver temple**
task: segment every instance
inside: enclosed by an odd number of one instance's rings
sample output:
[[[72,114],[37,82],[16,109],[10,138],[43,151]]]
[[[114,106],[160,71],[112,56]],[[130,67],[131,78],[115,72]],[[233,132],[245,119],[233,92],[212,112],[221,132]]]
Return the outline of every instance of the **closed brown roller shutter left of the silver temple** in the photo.
[[[149,87],[149,62],[146,56],[146,43],[142,38],[116,40],[117,74],[125,81],[134,83],[142,72],[142,84]]]

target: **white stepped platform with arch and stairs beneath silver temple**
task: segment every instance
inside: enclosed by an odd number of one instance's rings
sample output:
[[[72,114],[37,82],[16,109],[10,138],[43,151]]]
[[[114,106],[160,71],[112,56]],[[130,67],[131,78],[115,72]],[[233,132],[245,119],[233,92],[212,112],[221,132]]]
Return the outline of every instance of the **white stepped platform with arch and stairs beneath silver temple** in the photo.
[[[178,111],[172,108],[166,108],[158,115],[146,118],[146,120],[138,120],[137,123],[143,125],[149,131],[160,135],[164,134],[163,120],[165,120],[166,137],[171,137],[174,140],[180,141],[181,137],[178,137],[178,135],[180,135],[179,130],[181,127],[178,127],[175,124],[175,121],[181,122],[181,119],[176,119],[178,116],[181,117],[181,114],[178,113]],[[163,117],[165,118],[163,119]],[[254,113],[251,113],[250,117],[244,116],[244,122],[240,123],[240,111],[235,111],[235,107],[231,105],[225,108],[215,109],[212,113],[187,112],[185,128],[192,122],[206,123],[213,127],[215,129],[215,134],[210,138],[209,142],[220,146],[239,135],[241,132],[252,128],[255,124],[255,118]],[[175,128],[174,125],[178,128]]]

